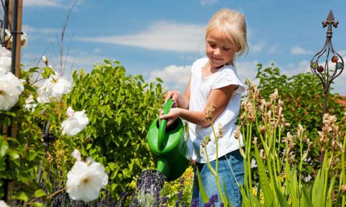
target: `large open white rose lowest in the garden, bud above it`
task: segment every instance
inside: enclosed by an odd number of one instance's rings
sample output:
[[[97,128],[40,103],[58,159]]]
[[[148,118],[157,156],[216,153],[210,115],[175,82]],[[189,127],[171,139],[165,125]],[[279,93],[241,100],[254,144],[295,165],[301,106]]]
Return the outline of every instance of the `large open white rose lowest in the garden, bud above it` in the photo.
[[[100,195],[100,190],[108,184],[108,175],[104,166],[93,161],[91,157],[81,161],[80,152],[72,153],[76,159],[72,169],[67,174],[66,192],[71,199],[93,201]]]

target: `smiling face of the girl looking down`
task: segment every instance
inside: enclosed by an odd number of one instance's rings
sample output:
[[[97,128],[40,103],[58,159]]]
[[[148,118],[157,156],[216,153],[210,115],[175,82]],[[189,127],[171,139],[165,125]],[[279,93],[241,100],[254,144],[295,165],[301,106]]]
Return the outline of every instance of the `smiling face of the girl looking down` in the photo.
[[[228,37],[219,29],[210,30],[206,37],[206,54],[212,69],[219,69],[233,63],[235,49]]]

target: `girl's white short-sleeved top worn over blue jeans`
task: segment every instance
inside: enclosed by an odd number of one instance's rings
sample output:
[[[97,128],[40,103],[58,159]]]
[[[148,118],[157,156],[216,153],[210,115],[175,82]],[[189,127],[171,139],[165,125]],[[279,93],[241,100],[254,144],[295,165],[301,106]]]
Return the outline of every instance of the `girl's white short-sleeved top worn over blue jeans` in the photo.
[[[191,82],[190,82],[190,106],[189,110],[203,111],[208,101],[209,94],[212,89],[222,88],[229,85],[237,85],[238,88],[233,92],[228,105],[223,112],[214,121],[215,132],[218,133],[218,126],[221,124],[223,130],[223,137],[219,138],[219,155],[221,157],[228,152],[239,149],[239,146],[244,146],[242,136],[239,140],[235,139],[234,132],[237,129],[235,122],[239,114],[240,101],[242,93],[245,91],[245,86],[237,76],[237,71],[234,66],[227,65],[217,72],[208,77],[202,77],[202,67],[206,65],[208,58],[198,59],[192,64]],[[216,159],[216,144],[215,137],[212,134],[212,127],[201,127],[196,124],[189,124],[188,147],[190,151],[190,158],[199,163],[206,163],[206,152],[201,147],[201,141],[210,136],[211,141],[208,143],[206,149],[208,152],[209,161]]]

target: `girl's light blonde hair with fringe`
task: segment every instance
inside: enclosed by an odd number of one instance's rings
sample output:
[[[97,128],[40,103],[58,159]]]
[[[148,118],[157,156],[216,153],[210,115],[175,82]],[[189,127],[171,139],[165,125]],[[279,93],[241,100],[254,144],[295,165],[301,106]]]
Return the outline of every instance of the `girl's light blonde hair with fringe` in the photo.
[[[206,27],[206,37],[215,28],[220,29],[224,32],[225,37],[230,39],[235,47],[237,57],[248,52],[246,21],[242,13],[229,10],[228,8],[217,11]]]

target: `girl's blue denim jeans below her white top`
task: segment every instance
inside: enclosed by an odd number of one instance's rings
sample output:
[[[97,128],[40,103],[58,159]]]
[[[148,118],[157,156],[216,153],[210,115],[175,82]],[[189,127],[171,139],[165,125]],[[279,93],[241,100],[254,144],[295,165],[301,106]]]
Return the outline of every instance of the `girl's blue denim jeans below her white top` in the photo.
[[[226,195],[224,186],[226,186],[228,201],[232,203],[234,207],[242,206],[242,194],[240,193],[239,184],[244,186],[244,159],[239,150],[229,152],[227,155],[219,157],[219,182],[222,193]],[[211,161],[210,165],[215,170],[216,161]],[[221,197],[219,190],[217,190],[217,182],[215,176],[210,172],[207,164],[196,164],[201,175],[203,188],[206,191],[209,199],[213,195],[217,195],[217,202],[215,206],[221,205]],[[199,207],[204,206],[201,199],[201,193],[199,192],[199,185],[197,179],[197,172],[194,172],[194,184],[192,190],[192,203],[196,204],[199,200]],[[226,207],[226,206],[225,206]]]

